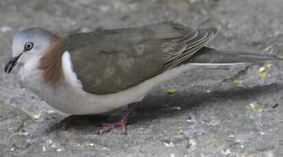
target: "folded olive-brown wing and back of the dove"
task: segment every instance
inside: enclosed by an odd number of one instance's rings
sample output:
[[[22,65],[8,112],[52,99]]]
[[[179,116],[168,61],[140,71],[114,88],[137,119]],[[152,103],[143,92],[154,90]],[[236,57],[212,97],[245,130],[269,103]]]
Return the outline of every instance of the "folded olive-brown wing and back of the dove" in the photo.
[[[216,32],[158,23],[78,33],[66,38],[66,51],[85,91],[112,94],[179,66]]]

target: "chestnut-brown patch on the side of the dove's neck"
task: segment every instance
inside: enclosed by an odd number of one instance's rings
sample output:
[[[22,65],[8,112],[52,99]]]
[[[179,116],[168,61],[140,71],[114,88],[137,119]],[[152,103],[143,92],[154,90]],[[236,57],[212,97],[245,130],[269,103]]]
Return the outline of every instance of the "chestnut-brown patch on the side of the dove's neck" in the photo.
[[[62,55],[64,53],[65,40],[57,37],[51,41],[51,46],[45,52],[38,63],[38,69],[42,70],[42,75],[45,83],[56,86],[62,83]]]

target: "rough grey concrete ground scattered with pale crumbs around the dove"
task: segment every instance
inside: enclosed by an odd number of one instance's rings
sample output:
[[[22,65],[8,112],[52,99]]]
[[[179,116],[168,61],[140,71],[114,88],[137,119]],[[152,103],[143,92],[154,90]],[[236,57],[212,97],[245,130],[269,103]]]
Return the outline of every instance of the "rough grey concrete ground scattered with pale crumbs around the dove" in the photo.
[[[215,48],[283,55],[282,10],[282,0],[2,0],[0,67],[26,27],[66,35],[164,20],[218,27]],[[195,66],[151,91],[127,135],[96,134],[113,116],[72,117],[43,134],[67,115],[0,72],[0,156],[283,156],[282,83],[283,62]]]

